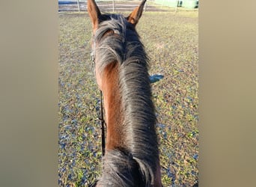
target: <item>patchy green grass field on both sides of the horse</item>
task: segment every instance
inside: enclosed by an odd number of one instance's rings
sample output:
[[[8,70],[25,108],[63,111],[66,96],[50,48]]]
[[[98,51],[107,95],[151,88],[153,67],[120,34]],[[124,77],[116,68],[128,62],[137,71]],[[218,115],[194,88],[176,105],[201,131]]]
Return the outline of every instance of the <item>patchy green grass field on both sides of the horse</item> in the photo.
[[[125,14],[125,15],[128,15]],[[59,14],[59,186],[101,174],[100,107],[87,13]],[[198,12],[144,13],[138,34],[150,56],[162,183],[198,182]]]

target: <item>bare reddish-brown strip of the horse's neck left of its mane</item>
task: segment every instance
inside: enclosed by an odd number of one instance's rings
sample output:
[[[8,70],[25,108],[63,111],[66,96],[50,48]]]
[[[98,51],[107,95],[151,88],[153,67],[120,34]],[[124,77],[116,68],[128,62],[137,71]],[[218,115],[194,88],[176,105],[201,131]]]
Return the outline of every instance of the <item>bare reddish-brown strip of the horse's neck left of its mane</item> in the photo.
[[[103,97],[107,125],[106,150],[121,147],[124,135],[121,97],[118,83],[118,63],[109,64],[103,72]]]

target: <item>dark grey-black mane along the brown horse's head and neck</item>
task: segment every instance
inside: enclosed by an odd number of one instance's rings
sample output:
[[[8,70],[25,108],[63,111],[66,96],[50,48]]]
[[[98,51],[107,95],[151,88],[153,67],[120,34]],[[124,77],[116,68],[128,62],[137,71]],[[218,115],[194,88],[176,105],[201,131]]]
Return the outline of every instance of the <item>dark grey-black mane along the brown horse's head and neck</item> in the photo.
[[[113,34],[106,34],[112,31]],[[159,152],[156,116],[151,100],[148,58],[135,27],[122,15],[104,14],[94,35],[94,55],[100,72],[119,66],[119,90],[124,111],[124,147],[104,156],[99,186],[152,186]],[[139,178],[138,178],[139,177]]]

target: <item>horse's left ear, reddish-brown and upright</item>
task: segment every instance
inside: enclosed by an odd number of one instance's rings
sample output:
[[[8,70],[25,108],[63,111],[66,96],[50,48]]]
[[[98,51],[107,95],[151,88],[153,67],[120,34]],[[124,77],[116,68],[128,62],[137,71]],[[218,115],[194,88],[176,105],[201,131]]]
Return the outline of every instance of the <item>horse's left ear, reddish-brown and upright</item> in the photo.
[[[89,16],[91,17],[91,22],[95,31],[99,25],[99,18],[101,15],[100,9],[94,0],[88,0],[87,10],[88,10]]]

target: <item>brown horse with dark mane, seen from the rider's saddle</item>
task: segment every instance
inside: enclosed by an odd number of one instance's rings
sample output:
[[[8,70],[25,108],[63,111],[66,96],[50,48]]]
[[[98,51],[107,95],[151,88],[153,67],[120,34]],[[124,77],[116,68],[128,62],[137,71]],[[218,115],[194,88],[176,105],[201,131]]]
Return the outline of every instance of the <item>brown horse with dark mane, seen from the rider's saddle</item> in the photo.
[[[97,84],[107,135],[97,186],[162,186],[148,58],[135,31],[146,0],[124,17],[102,14],[88,0]]]

